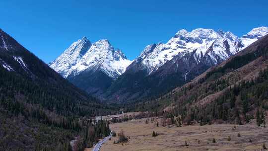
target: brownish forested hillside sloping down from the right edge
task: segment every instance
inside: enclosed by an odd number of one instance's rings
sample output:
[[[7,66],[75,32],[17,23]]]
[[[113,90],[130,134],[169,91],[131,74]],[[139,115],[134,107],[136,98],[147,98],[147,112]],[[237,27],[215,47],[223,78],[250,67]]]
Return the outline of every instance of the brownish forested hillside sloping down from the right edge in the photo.
[[[186,124],[193,120],[201,125],[216,121],[244,124],[252,118],[261,124],[268,110],[267,67],[268,35],[184,86],[133,108],[182,115]]]

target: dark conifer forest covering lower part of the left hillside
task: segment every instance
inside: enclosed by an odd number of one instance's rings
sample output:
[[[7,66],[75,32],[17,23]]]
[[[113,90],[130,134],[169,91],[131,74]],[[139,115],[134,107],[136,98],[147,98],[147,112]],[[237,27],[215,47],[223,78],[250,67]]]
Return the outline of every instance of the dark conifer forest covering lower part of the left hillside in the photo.
[[[90,119],[112,114],[114,108],[65,82],[31,79],[0,66],[0,148],[70,151],[69,141],[76,136],[83,142],[79,148],[107,136],[108,125],[90,124]],[[83,134],[90,127],[96,135],[88,139]]]

